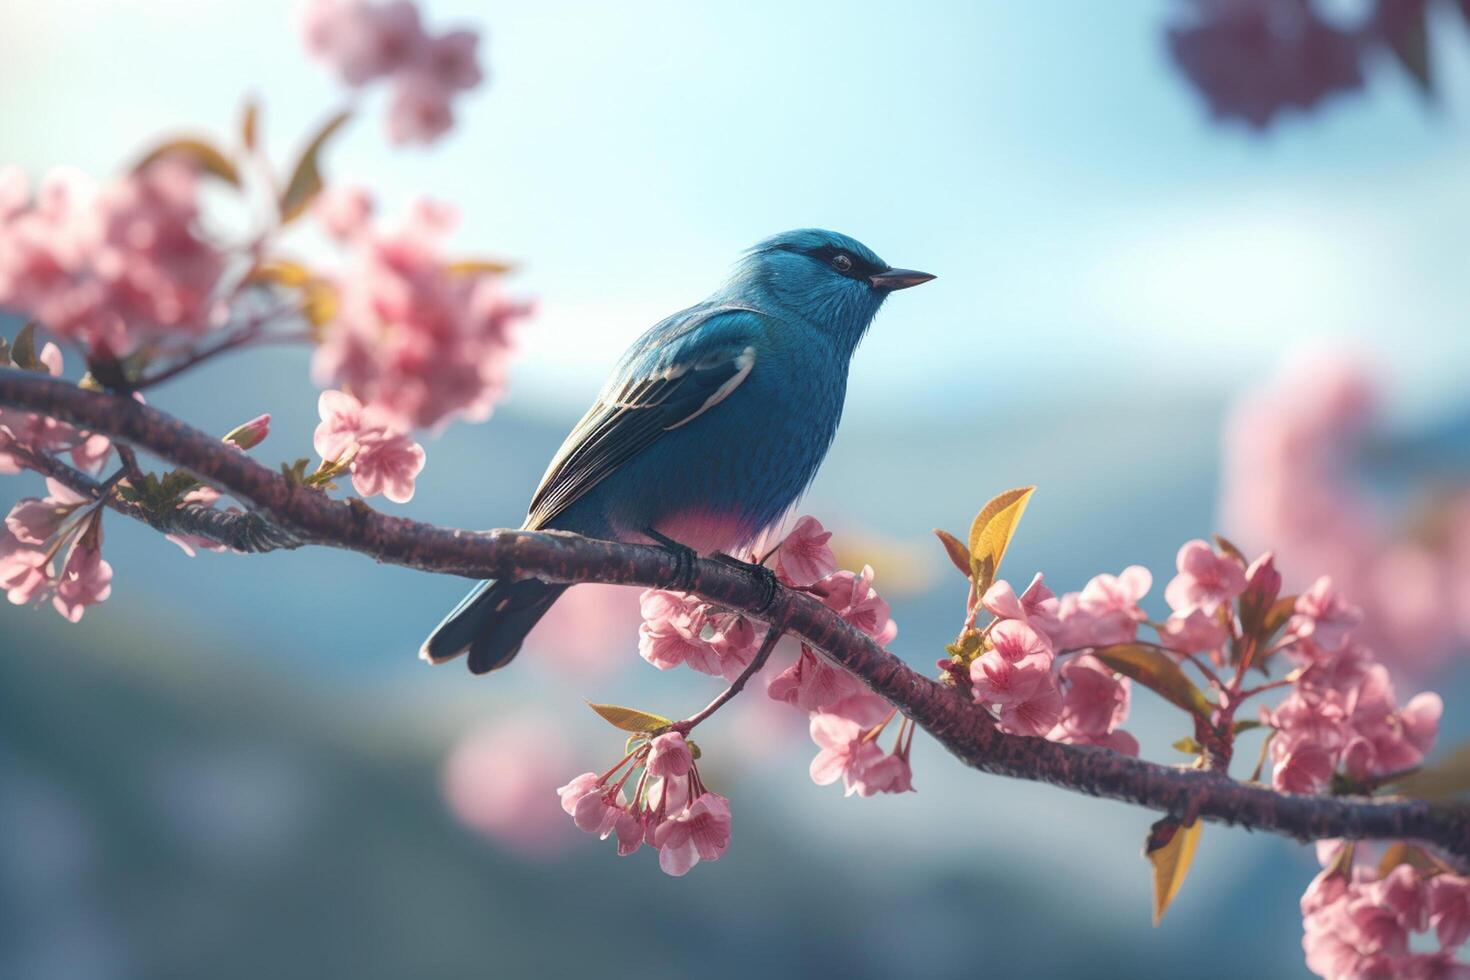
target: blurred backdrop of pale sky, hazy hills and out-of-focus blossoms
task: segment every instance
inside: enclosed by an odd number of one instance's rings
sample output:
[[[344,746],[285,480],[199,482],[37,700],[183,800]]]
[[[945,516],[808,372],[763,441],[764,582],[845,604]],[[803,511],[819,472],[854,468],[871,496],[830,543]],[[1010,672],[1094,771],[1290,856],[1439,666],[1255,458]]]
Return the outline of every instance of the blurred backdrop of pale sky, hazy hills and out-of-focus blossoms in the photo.
[[[900,655],[932,664],[963,617],[931,529],[1036,483],[1011,580],[1141,563],[1161,586],[1189,538],[1274,547],[1289,589],[1352,583],[1401,699],[1445,695],[1442,746],[1470,735],[1458,4],[423,9],[488,34],[490,84],[431,150],[360,118],[331,175],[390,212],[453,201],[456,247],[516,262],[538,313],[509,401],[428,442],[395,513],[519,523],[634,336],[751,242],[829,226],[939,276],[864,341],[803,507],[878,569]],[[293,18],[10,0],[0,163],[103,175],[162,134],[228,134],[245,93],[284,157],[340,100]],[[256,454],[294,458],[306,363],[253,353],[150,401],[219,432],[270,411]],[[0,504],[40,489],[7,479]],[[922,738],[917,793],[845,799],[759,692],[701,738],[728,858],[682,880],[619,861],[553,793],[620,745],[582,698],[678,716],[719,689],[637,657],[635,592],[573,591],[472,679],[415,657],[463,582],[325,550],[190,560],[118,519],[107,557],[113,597],[78,626],[0,608],[0,977],[1307,976],[1308,848],[1207,827],[1152,929],[1150,814]],[[1127,727],[1183,761],[1147,692]]]

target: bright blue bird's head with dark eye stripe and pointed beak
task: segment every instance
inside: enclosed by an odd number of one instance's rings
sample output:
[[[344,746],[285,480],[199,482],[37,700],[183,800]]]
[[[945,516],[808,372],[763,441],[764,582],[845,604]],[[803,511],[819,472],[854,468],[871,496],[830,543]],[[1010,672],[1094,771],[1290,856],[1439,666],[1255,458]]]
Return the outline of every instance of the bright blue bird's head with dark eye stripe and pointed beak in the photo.
[[[856,238],[801,228],[745,253],[729,289],[757,291],[856,345],[889,292],[931,279],[928,272],[894,269]]]

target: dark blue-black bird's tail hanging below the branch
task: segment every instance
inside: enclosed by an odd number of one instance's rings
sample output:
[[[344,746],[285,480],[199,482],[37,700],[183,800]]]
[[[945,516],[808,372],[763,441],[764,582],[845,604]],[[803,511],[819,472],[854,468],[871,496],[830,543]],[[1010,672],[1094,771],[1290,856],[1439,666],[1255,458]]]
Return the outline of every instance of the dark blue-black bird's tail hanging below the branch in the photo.
[[[419,657],[442,664],[467,652],[470,673],[498,670],[567,588],[537,579],[481,582],[423,641]]]

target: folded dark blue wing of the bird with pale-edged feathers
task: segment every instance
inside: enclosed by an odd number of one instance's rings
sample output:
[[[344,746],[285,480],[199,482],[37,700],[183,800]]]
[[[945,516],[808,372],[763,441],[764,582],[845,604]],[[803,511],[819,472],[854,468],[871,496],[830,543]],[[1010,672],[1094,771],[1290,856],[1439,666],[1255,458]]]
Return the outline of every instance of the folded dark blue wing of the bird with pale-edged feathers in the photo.
[[[756,366],[750,341],[763,316],[714,307],[691,317],[694,323],[667,323],[662,342],[654,342],[659,328],[650,331],[562,444],[531,500],[525,526],[545,527],[664,432],[728,398]]]

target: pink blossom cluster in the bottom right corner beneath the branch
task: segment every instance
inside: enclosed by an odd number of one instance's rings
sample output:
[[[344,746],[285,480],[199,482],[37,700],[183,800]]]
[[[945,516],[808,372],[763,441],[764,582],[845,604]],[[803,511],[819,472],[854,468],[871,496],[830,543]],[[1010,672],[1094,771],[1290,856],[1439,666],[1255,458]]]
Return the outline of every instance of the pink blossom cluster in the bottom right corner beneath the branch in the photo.
[[[1329,980],[1470,977],[1454,958],[1470,937],[1470,879],[1417,846],[1372,852],[1366,843],[1317,845],[1323,870],[1301,896],[1307,967]]]

